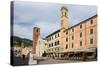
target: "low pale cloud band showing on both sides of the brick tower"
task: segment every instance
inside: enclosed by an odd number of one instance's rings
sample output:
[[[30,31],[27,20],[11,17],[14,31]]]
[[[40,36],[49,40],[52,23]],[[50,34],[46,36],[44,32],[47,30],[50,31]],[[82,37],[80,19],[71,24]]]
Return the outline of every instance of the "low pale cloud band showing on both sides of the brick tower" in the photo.
[[[60,26],[59,26],[59,23],[51,24],[50,22],[45,22],[45,21],[35,22],[35,24],[31,26],[28,26],[28,25],[23,26],[23,24],[14,25],[14,35],[18,35],[18,36],[32,40],[33,27],[39,27],[41,37],[45,37],[49,35],[50,33],[58,30]]]

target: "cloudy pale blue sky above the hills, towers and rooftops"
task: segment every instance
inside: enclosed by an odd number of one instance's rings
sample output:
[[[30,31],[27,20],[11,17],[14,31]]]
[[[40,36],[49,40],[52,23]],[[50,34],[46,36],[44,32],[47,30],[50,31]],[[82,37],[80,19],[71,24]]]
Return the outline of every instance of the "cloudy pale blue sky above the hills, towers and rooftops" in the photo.
[[[96,6],[15,1],[14,36],[32,40],[34,27],[42,38],[60,29],[62,6],[68,8],[69,27],[97,14]]]

